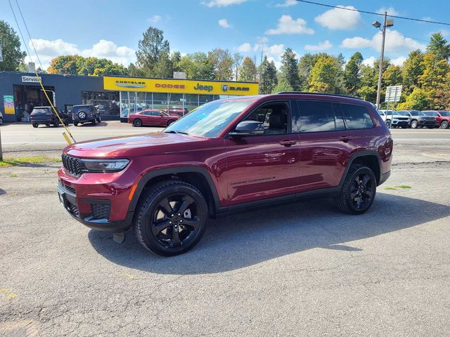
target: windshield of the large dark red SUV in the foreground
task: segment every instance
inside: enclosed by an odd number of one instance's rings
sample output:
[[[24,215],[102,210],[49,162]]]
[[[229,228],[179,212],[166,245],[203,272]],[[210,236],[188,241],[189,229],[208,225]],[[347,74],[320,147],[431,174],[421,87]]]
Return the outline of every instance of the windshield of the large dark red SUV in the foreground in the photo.
[[[164,132],[178,131],[192,136],[217,137],[240,112],[255,102],[252,100],[215,100],[198,107],[170,124]]]

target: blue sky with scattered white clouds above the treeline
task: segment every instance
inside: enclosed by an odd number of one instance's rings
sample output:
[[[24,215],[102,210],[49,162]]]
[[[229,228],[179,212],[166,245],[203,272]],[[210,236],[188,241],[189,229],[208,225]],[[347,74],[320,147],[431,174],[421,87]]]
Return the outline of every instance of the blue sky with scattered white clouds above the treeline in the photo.
[[[229,48],[256,56],[259,63],[263,50],[279,65],[284,48],[290,47],[298,55],[326,51],[345,58],[360,51],[371,62],[378,58],[380,46],[380,33],[371,23],[383,19],[295,0],[41,0],[39,6],[32,0],[18,2],[44,67],[57,55],[73,53],[128,65],[135,60],[134,51],[149,25],[162,29],[171,50],[181,53]],[[450,1],[444,0],[319,2],[450,21]],[[0,19],[17,31],[8,1],[0,0],[0,8],[4,8]],[[386,55],[401,64],[409,51],[425,48],[432,32],[442,31],[450,39],[449,30],[449,26],[395,19],[387,32]]]

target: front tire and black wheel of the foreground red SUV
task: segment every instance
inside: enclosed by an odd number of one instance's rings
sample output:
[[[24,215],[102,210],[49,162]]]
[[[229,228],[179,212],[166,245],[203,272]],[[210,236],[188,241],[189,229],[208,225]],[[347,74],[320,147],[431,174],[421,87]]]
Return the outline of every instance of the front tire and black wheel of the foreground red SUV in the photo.
[[[205,198],[197,188],[182,181],[165,180],[141,197],[136,207],[134,232],[139,243],[149,251],[174,256],[192,249],[200,241],[207,214]]]

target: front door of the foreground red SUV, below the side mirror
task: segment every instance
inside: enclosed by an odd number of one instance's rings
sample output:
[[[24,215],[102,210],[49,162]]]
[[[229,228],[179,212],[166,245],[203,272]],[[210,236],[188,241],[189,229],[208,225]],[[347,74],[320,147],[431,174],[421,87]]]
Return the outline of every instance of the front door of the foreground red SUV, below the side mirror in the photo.
[[[299,135],[290,133],[290,102],[265,103],[244,120],[264,123],[264,135],[226,138],[229,205],[294,195]]]

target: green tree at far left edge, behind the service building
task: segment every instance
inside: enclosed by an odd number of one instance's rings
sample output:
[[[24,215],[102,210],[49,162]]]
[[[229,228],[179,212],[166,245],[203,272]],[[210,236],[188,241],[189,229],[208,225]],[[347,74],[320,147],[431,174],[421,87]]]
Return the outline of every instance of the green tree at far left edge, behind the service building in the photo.
[[[20,51],[18,34],[4,20],[0,20],[0,48],[3,55],[3,61],[0,62],[0,71],[18,71],[27,53]]]

